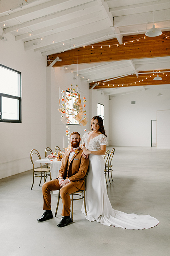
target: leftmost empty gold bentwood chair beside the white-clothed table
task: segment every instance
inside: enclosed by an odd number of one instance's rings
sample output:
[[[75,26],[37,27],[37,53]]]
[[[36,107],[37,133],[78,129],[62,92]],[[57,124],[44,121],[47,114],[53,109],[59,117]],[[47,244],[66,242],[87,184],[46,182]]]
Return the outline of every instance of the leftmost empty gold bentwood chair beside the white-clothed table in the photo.
[[[40,177],[39,186],[41,185],[41,180],[42,180],[43,177],[44,177],[44,183],[45,183],[46,178],[48,176],[50,176],[50,180],[51,180],[51,172],[50,172],[49,168],[42,168],[41,163],[40,163],[40,168],[36,168],[36,169],[34,168],[33,156],[38,156],[38,158],[41,159],[41,156],[40,156],[39,152],[36,149],[32,149],[31,152],[30,152],[30,159],[31,159],[32,164],[33,164],[33,184],[32,184],[31,190],[32,190],[33,185],[34,185],[34,177]]]

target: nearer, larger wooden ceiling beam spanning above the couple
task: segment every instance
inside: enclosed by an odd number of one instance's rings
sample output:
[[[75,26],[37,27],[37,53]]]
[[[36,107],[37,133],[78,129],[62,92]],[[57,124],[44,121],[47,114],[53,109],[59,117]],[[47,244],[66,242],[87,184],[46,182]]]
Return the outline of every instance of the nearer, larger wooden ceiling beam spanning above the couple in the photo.
[[[49,66],[50,62],[57,56],[62,61],[55,63],[53,67],[80,63],[113,62],[117,60],[170,56],[170,31],[163,33],[166,34],[168,38],[162,34],[158,37],[146,37],[145,39],[145,34],[136,34],[124,36],[122,45],[114,38],[93,44],[93,49],[92,46],[85,46],[85,48],[74,48],[66,52],[52,54],[47,56],[47,66]],[[137,39],[139,39],[139,41],[137,41]],[[111,45],[110,48],[109,45]],[[100,46],[102,46],[102,48]]]

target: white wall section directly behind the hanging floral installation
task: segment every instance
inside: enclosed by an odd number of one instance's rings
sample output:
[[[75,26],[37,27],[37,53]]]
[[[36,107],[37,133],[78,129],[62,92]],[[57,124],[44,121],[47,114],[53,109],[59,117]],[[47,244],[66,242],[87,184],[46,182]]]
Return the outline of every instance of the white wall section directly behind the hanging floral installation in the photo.
[[[61,113],[58,111],[58,97],[59,97],[59,86],[61,91],[66,91],[70,85],[76,88],[77,84],[86,97],[86,113],[88,123],[86,126],[75,126],[69,125],[70,132],[77,131],[81,137],[84,134],[84,129],[89,130],[89,85],[87,82],[81,82],[80,78],[74,79],[73,73],[65,73],[64,67],[61,68],[46,68],[47,72],[47,146],[50,146],[54,150],[55,146],[58,145],[60,149],[63,149],[63,136],[65,136],[65,147],[68,144],[68,137],[66,136],[66,124],[61,122]],[[80,92],[80,91],[79,91]]]

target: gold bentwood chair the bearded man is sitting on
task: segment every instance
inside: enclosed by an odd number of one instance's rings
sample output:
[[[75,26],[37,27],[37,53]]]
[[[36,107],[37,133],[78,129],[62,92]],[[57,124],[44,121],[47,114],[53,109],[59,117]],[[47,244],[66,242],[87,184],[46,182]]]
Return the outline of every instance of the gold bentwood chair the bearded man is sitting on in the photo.
[[[84,209],[85,209],[85,213],[87,215],[87,210],[86,210],[86,197],[85,197],[85,190],[86,190],[86,177],[87,177],[87,174],[89,172],[89,169],[87,170],[86,172],[86,175],[85,175],[85,189],[84,190],[78,190],[72,194],[70,194],[71,196],[71,202],[72,202],[72,221],[73,221],[73,201],[77,201],[77,200],[81,200],[84,198]],[[83,194],[80,194],[80,193],[83,193]],[[74,198],[74,195],[77,195],[78,198]],[[57,201],[57,207],[56,207],[56,213],[55,213],[55,217],[57,216],[57,211],[58,211],[58,206],[59,206],[59,201],[60,201],[60,190],[58,190],[58,201]]]

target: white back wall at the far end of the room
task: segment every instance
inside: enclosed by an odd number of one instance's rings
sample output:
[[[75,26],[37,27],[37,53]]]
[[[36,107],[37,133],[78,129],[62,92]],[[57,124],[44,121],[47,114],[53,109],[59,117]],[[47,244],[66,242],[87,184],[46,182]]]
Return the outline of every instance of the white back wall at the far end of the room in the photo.
[[[114,146],[151,146],[151,120],[170,109],[170,89],[117,95],[110,101],[110,134]],[[161,90],[162,96],[157,96]],[[131,104],[136,101],[136,104]]]

